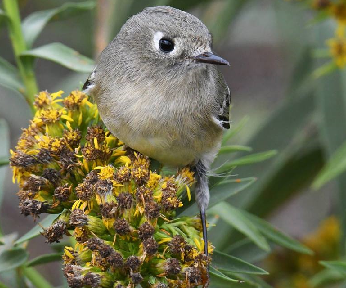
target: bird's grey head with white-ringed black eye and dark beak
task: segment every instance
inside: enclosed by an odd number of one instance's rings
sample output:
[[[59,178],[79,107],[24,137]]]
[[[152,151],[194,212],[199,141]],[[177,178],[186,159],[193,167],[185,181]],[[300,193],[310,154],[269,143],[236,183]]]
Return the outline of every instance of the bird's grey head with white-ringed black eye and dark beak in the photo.
[[[134,63],[180,70],[229,65],[212,51],[212,34],[195,16],[162,6],[146,8],[131,17],[117,43]],[[181,68],[183,67],[183,68]]]

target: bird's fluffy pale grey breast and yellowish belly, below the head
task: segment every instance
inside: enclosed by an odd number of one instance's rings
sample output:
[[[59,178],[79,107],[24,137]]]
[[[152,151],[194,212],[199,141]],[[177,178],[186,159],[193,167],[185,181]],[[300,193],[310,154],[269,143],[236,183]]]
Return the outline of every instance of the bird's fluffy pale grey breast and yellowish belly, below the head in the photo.
[[[121,141],[171,166],[190,164],[218,144],[222,129],[211,116],[213,103],[203,102],[203,95],[149,90],[123,87],[96,97],[102,120]]]

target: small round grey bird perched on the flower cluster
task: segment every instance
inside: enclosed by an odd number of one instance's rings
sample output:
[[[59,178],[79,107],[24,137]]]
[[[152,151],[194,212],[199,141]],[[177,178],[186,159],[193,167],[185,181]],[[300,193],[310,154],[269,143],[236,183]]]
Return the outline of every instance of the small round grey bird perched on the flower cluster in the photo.
[[[195,171],[208,255],[207,174],[229,129],[230,91],[216,65],[212,34],[196,17],[172,7],[132,16],[99,56],[83,86],[107,128],[132,149]]]

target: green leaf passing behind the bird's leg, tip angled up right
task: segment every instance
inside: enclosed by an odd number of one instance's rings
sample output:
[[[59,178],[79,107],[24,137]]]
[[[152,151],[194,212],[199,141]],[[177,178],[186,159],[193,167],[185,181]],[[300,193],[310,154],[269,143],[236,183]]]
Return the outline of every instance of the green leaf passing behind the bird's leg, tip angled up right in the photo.
[[[221,201],[243,191],[250,186],[256,178],[244,178],[234,180],[224,180],[210,189],[209,208],[220,203]],[[194,198],[194,195],[192,195]],[[177,215],[192,216],[199,212],[197,204],[192,199],[190,202],[183,202],[183,207],[177,211]]]

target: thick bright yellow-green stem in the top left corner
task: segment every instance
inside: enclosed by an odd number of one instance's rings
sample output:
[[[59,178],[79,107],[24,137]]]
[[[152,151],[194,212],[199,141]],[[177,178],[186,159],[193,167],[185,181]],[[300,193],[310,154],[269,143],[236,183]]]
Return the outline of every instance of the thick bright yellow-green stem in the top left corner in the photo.
[[[31,110],[34,112],[34,96],[38,93],[37,80],[33,70],[33,60],[22,61],[20,54],[27,50],[24,35],[20,25],[20,14],[17,0],[3,0],[3,7],[8,17],[9,36],[11,38],[15,60],[19,68],[20,76],[25,85],[25,91],[21,91]]]

